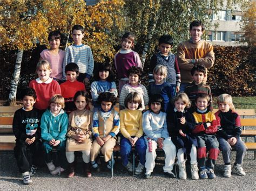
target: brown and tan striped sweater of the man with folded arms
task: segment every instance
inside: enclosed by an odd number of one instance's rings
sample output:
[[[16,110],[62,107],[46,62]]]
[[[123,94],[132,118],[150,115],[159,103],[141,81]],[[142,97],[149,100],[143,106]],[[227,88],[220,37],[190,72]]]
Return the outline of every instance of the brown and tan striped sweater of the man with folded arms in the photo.
[[[211,68],[214,63],[214,52],[211,43],[205,40],[200,40],[197,43],[192,43],[191,40],[187,40],[180,43],[177,48],[177,59],[180,68],[181,82],[191,83],[193,81],[190,74],[194,64],[202,64],[206,68]],[[196,62],[193,64],[191,60],[194,59]],[[207,70],[204,82],[207,80]]]

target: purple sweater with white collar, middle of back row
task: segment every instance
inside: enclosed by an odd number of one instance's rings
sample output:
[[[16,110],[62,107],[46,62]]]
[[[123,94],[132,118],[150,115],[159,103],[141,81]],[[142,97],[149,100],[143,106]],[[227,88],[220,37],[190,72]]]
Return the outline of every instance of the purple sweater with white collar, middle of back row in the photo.
[[[114,55],[114,66],[117,70],[118,79],[129,77],[127,70],[132,66],[137,66],[142,68],[142,61],[140,61],[139,54],[132,51],[123,51],[122,49],[116,55]]]

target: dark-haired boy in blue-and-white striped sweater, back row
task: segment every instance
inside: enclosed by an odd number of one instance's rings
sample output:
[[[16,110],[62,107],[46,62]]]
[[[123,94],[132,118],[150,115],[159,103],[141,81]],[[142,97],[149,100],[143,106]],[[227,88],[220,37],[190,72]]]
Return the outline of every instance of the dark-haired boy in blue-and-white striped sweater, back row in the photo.
[[[73,26],[72,38],[74,44],[66,49],[63,69],[64,66],[70,62],[77,63],[80,73],[78,76],[78,81],[88,84],[93,72],[94,61],[90,46],[82,44],[82,40],[84,38],[84,27],[81,25]]]

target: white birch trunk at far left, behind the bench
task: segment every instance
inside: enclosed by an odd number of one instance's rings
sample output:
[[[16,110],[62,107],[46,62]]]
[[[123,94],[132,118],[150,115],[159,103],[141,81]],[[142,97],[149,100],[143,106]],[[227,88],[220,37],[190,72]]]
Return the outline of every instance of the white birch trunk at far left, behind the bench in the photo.
[[[17,53],[14,75],[12,76],[11,90],[9,94],[9,104],[12,106],[16,105],[16,94],[17,94],[17,88],[19,83],[19,76],[21,75],[22,56],[23,56],[23,49],[19,49]]]

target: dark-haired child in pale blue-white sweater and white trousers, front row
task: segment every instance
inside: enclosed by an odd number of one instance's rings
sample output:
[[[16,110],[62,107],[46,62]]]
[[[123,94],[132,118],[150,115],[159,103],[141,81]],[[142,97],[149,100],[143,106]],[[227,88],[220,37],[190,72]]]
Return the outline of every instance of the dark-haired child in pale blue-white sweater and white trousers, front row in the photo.
[[[161,148],[165,152],[164,173],[170,178],[176,176],[172,173],[174,159],[176,157],[176,147],[172,143],[171,137],[167,130],[166,113],[164,110],[164,98],[159,94],[154,94],[149,102],[150,110],[143,114],[143,131],[146,134],[147,143],[146,162],[145,162],[145,178],[150,178],[156,165],[154,160],[157,157],[156,149]]]

